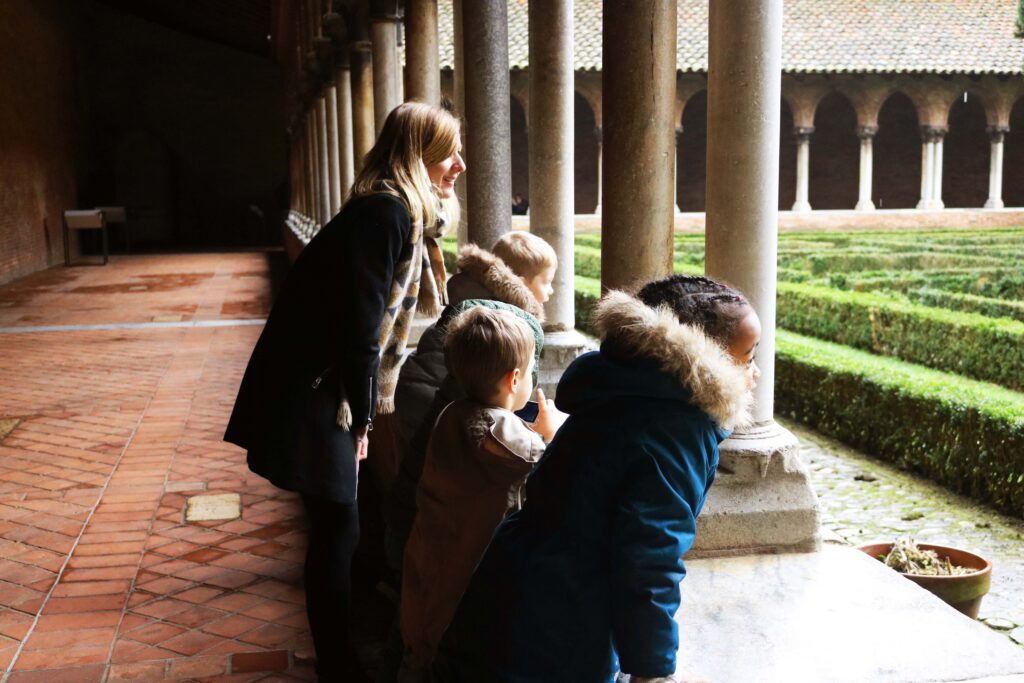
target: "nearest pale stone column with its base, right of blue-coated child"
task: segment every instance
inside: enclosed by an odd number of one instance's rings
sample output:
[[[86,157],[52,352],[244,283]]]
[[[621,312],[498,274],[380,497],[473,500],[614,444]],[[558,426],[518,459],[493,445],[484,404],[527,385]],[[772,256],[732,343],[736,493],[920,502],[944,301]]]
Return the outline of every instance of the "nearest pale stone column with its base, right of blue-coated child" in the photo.
[[[817,501],[800,443],[773,419],[782,0],[710,5],[707,271],[761,318],[755,424],[720,446],[694,554],[818,547]]]

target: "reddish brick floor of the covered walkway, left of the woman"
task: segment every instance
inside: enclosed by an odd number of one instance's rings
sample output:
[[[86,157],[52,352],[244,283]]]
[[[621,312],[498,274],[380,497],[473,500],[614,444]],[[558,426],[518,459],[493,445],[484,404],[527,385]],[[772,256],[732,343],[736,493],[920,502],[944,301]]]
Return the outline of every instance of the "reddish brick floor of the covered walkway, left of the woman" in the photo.
[[[51,268],[0,287],[0,328],[263,317],[267,263]],[[313,679],[300,509],[221,440],[259,331],[0,331],[3,683]],[[184,522],[222,493],[240,518]]]

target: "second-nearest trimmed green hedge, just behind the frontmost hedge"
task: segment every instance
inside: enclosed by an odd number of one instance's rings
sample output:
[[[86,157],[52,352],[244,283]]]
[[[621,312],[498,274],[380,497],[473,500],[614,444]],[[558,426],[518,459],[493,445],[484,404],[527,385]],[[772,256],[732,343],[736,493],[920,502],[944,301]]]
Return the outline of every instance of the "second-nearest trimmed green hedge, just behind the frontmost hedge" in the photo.
[[[778,284],[778,327],[929,368],[1024,389],[1024,323],[870,292]]]

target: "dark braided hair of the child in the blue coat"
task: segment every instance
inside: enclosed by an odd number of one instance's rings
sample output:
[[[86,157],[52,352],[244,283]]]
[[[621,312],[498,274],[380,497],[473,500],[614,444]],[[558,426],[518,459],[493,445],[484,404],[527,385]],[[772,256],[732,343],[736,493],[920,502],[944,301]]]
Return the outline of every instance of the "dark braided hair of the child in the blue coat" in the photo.
[[[636,297],[651,308],[668,306],[680,323],[695,325],[723,346],[751,311],[738,290],[703,275],[669,275],[644,285]]]

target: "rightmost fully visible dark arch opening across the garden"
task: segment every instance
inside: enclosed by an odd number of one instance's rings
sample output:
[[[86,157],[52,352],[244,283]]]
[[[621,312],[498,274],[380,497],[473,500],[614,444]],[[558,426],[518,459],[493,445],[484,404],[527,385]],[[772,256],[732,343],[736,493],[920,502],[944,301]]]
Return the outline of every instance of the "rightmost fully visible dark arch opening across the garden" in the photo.
[[[942,200],[947,207],[980,208],[988,198],[988,133],[984,100],[965,90],[949,108],[943,142]]]

